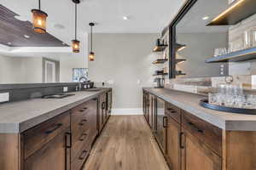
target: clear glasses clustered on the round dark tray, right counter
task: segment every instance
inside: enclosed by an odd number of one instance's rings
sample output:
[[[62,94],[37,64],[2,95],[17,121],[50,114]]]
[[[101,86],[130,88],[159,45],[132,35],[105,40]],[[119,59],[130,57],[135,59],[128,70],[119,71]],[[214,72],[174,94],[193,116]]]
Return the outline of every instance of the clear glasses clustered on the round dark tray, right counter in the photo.
[[[256,95],[244,94],[240,85],[220,84],[216,94],[208,94],[208,101],[213,105],[256,109]]]

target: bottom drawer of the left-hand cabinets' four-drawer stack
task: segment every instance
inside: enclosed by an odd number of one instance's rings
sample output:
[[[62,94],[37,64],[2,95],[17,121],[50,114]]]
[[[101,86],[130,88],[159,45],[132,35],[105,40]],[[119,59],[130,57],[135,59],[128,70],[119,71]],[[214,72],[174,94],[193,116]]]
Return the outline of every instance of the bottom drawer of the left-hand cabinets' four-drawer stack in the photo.
[[[84,161],[86,158],[89,156],[90,152],[90,145],[89,144],[84,144],[84,146],[79,150],[79,153],[73,161],[71,162],[71,169],[72,170],[80,170],[81,167],[84,165]]]

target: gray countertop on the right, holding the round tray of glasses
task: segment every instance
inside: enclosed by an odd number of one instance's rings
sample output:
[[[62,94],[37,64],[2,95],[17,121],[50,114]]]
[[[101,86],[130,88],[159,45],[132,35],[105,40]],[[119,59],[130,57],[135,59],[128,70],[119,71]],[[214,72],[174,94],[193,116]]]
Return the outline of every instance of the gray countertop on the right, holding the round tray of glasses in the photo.
[[[256,116],[213,111],[204,108],[199,105],[199,102],[200,99],[205,99],[205,96],[178,92],[166,88],[143,89],[224,130],[256,131]]]

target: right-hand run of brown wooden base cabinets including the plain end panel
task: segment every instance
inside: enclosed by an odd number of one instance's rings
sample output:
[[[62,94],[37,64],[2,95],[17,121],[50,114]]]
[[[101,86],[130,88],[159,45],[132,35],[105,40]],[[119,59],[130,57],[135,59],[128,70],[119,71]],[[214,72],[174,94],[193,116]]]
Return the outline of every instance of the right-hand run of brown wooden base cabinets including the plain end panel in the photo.
[[[153,94],[150,96],[160,100]],[[143,111],[147,115],[145,108]],[[154,121],[150,115],[148,124],[152,127]],[[225,131],[168,102],[164,117],[166,145],[160,149],[171,170],[256,170],[255,131]],[[155,134],[154,128],[152,131]]]

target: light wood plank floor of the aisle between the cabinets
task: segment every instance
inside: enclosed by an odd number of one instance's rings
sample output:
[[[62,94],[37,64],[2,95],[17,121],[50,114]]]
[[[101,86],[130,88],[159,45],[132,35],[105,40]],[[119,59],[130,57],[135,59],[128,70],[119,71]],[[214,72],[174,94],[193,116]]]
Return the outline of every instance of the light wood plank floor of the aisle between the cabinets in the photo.
[[[169,170],[143,116],[111,116],[84,170]]]

